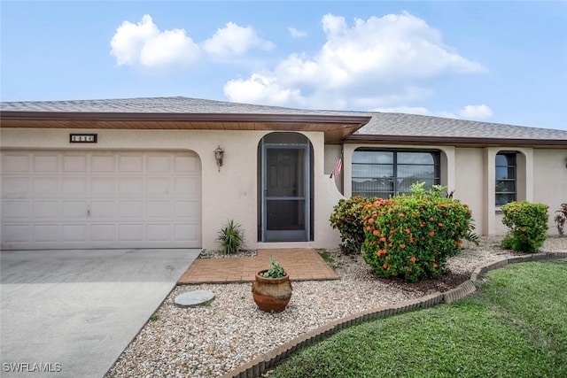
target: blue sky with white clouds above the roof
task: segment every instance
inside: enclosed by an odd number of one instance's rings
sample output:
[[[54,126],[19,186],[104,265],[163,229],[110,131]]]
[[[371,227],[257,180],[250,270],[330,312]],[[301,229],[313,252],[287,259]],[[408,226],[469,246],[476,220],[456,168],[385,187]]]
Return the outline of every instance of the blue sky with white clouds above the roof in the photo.
[[[2,101],[190,96],[567,130],[567,2],[1,1]]]

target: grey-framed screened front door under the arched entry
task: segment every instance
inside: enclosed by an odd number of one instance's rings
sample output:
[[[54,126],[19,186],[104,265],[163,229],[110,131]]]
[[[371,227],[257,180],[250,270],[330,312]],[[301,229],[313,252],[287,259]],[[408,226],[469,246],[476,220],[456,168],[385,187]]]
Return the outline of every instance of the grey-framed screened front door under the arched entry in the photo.
[[[262,143],[263,242],[305,242],[310,235],[307,143]]]

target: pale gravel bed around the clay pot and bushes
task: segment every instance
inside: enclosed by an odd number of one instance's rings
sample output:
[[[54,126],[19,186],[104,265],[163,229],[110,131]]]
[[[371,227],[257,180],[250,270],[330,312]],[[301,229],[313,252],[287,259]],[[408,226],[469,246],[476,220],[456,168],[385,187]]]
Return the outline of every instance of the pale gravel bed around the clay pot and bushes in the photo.
[[[500,239],[468,244],[447,266],[470,274],[486,262],[514,255],[498,248]],[[567,237],[549,238],[543,251],[567,251]],[[290,304],[283,312],[261,312],[251,283],[176,287],[122,353],[106,377],[217,377],[296,336],[351,314],[428,294],[411,285],[375,278],[361,258],[330,251],[337,281],[292,282]],[[210,256],[209,256],[210,258]],[[180,308],[174,298],[191,290],[211,290],[208,305]],[[434,290],[433,290],[434,291]]]

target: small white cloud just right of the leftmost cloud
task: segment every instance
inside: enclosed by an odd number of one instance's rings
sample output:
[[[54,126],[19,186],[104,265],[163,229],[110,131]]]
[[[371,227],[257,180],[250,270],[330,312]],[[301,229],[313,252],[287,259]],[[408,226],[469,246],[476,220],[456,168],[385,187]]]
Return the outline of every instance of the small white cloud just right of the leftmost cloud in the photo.
[[[239,27],[234,22],[217,29],[213,37],[203,42],[203,49],[219,58],[243,55],[252,48],[272,50],[274,44],[262,40],[252,27]]]

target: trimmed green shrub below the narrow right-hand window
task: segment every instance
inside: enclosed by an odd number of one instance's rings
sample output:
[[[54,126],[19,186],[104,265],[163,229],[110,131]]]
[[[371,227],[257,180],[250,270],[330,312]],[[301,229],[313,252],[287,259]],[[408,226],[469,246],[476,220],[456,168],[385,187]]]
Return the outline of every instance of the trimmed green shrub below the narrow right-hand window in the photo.
[[[535,253],[548,234],[548,205],[527,201],[510,202],[502,206],[502,223],[509,233],[502,241],[503,248]]]

